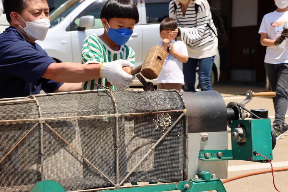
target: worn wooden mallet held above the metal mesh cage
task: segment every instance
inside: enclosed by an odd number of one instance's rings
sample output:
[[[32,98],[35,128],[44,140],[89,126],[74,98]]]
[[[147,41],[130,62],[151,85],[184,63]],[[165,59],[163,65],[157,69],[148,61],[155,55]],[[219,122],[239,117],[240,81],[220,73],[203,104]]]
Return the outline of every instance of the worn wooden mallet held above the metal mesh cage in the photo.
[[[163,67],[166,55],[167,53],[163,47],[153,46],[146,55],[144,63],[132,69],[131,75],[141,72],[147,79],[156,79]]]

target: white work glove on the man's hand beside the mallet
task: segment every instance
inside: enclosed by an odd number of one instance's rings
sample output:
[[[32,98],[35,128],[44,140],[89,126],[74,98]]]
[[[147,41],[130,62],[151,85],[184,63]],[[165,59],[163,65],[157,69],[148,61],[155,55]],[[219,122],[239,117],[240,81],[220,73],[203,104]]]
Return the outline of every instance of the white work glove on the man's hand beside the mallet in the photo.
[[[107,79],[117,89],[127,88],[132,84],[135,75],[129,75],[122,69],[126,66],[134,68],[130,61],[123,59],[102,63],[100,77]]]

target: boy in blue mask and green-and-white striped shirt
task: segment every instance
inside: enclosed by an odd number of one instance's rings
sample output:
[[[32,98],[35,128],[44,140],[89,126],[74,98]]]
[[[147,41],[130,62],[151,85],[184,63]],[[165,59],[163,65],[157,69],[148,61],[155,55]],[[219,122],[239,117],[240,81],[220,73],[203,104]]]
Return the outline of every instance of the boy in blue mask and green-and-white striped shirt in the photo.
[[[92,34],[88,36],[82,46],[83,64],[99,64],[101,69],[103,63],[130,62],[130,66],[123,67],[123,70],[131,74],[135,64],[135,53],[132,48],[125,45],[133,33],[133,28],[139,21],[138,9],[133,0],[108,0],[100,14],[102,24],[105,28],[101,36]],[[94,83],[110,86],[105,78],[109,69],[101,70],[101,78],[82,83],[83,90],[96,89]],[[122,82],[110,82],[111,89],[129,87]],[[98,88],[99,89],[99,88]]]

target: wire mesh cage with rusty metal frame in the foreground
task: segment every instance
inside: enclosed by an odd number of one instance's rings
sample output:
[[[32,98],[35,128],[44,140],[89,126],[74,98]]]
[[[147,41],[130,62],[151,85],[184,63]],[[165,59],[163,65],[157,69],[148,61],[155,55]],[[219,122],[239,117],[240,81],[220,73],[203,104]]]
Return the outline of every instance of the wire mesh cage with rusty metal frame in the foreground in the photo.
[[[0,101],[0,192],[183,180],[179,92],[81,91]]]

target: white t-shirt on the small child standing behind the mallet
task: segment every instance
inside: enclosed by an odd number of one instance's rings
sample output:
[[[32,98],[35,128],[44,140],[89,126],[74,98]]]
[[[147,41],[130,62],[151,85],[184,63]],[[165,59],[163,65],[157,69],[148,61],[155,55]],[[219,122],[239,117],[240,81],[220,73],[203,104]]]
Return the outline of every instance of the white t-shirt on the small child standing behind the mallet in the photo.
[[[162,46],[162,41],[157,45]],[[178,53],[188,57],[185,43],[175,41],[173,47]],[[181,83],[184,85],[183,62],[176,59],[172,54],[167,54],[163,67],[158,75],[157,83]]]

